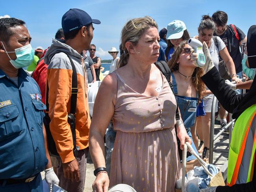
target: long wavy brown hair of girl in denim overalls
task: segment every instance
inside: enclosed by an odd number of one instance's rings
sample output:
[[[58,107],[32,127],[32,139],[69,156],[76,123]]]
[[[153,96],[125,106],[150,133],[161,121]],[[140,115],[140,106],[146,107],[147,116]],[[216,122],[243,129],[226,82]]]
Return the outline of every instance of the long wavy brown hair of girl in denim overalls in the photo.
[[[172,72],[179,69],[179,64],[177,63],[177,61],[180,59],[180,54],[182,54],[182,50],[186,44],[187,41],[180,42],[179,46],[177,46],[176,50],[174,51],[171,60],[168,62],[168,65]],[[204,92],[206,90],[204,82],[201,79],[203,75],[204,70],[200,67],[196,67],[192,74],[192,84],[194,85],[198,93],[198,103],[203,98]]]

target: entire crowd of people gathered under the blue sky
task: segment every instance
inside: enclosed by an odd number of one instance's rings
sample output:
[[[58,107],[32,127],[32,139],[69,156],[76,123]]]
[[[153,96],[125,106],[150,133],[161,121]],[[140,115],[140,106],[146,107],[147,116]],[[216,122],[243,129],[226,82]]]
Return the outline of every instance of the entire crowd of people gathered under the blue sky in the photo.
[[[221,128],[225,110],[236,123],[227,186],[201,191],[255,191],[256,26],[246,37],[227,22],[223,11],[202,16],[193,37],[206,57],[199,67],[183,21],[158,31],[151,17],[131,19],[121,31],[120,57],[117,48],[108,51],[113,59],[103,77],[91,44],[100,20],[85,11],[67,11],[46,50],[32,49],[24,21],[1,18],[0,191],[41,192],[45,171],[50,191],[56,184],[83,192],[90,153],[93,192],[173,192],[185,142],[202,159],[209,156],[212,107]],[[173,87],[156,61],[168,64]],[[251,80],[242,83],[243,76]],[[95,81],[102,82],[91,117],[88,89]],[[219,106],[212,106],[214,95]],[[196,161],[189,151],[186,161]]]

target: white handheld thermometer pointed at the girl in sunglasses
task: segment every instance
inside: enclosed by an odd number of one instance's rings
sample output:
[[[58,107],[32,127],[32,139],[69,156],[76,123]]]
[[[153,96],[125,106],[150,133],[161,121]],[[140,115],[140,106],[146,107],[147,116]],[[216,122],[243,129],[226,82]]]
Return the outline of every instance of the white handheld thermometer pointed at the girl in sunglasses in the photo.
[[[195,53],[197,53],[198,55],[196,66],[202,68],[206,62],[204,52],[203,52],[203,44],[195,38],[190,38],[188,40],[188,44],[195,50]]]

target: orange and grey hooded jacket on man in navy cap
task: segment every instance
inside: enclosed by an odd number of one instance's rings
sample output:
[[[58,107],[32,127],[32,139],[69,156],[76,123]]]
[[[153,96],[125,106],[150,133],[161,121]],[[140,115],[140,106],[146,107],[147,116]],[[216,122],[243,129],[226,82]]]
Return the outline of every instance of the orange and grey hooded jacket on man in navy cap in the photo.
[[[45,54],[45,63],[48,65],[50,131],[61,160],[66,163],[75,159],[72,151],[72,133],[67,121],[70,113],[72,66],[67,55],[61,51],[70,55],[77,72],[76,146],[79,146],[80,150],[88,147],[91,120],[83,57],[67,44],[52,39],[52,45]]]

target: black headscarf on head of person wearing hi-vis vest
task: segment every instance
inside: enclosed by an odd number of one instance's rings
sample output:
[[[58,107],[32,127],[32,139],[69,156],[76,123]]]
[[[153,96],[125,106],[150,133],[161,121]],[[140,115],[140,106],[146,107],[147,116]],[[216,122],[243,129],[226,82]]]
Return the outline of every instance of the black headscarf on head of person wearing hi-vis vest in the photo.
[[[249,28],[247,34],[247,55],[256,55],[256,25]],[[256,57],[248,57],[250,68],[256,68]]]

